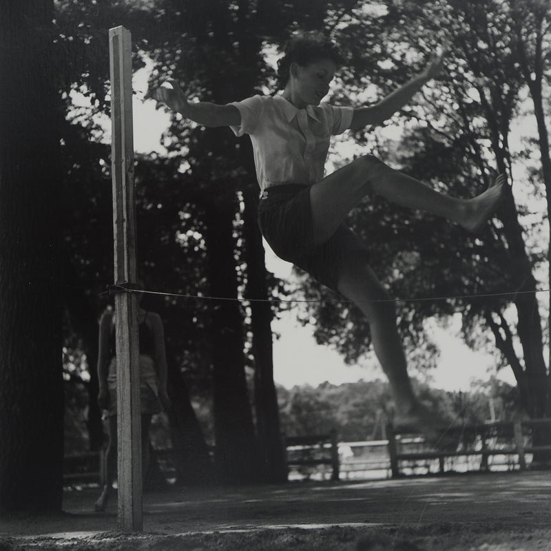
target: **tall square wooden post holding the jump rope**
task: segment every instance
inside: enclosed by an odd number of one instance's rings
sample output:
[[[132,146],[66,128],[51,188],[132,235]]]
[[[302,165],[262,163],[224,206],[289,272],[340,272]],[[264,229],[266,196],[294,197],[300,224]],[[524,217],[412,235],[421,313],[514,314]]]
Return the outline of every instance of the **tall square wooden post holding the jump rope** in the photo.
[[[132,137],[132,41],[123,27],[109,30],[115,284],[136,281],[136,207]],[[118,426],[118,527],[142,530],[140,374],[136,298],[115,296]]]

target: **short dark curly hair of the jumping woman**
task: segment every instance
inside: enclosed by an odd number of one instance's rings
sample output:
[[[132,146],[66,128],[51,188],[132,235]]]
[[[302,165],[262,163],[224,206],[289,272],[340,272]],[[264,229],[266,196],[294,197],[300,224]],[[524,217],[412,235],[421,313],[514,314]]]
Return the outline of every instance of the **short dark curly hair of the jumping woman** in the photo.
[[[289,81],[289,69],[291,63],[308,65],[320,59],[330,59],[341,67],[344,65],[344,57],[339,48],[324,34],[318,31],[302,32],[291,38],[283,50],[284,55],[278,61],[278,85],[284,88]]]

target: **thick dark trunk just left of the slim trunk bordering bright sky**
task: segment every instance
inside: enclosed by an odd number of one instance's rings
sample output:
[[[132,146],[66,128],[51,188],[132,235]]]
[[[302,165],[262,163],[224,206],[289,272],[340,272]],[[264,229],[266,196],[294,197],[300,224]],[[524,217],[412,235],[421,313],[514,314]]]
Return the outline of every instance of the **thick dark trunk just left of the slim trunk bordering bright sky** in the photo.
[[[235,211],[227,199],[212,205],[206,218],[206,242],[211,294],[230,299],[211,304],[215,464],[222,481],[239,484],[258,481],[259,466],[245,379],[243,319],[237,301]]]

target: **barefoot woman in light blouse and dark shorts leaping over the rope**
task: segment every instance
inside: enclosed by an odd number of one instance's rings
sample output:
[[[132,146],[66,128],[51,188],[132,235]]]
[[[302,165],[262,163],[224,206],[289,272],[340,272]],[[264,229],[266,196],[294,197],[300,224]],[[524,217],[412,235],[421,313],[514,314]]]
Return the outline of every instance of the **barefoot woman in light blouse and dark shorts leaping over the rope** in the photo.
[[[306,33],[289,41],[278,62],[281,94],[257,95],[227,105],[189,103],[178,84],[169,81],[172,87],[160,87],[156,98],[200,125],[229,126],[237,136],[249,134],[261,191],[258,224],[262,235],[276,255],[362,310],[391,384],[395,425],[419,430],[434,440],[437,419],[413,393],[395,306],[369,265],[365,245],[343,222],[365,196],[376,194],[476,231],[495,211],[506,178],[498,176],[475,198],[453,198],[372,155],[360,156],[324,176],[331,135],[386,121],[438,74],[442,54],[376,105],[353,108],[320,103],[343,62],[331,41],[318,33]]]

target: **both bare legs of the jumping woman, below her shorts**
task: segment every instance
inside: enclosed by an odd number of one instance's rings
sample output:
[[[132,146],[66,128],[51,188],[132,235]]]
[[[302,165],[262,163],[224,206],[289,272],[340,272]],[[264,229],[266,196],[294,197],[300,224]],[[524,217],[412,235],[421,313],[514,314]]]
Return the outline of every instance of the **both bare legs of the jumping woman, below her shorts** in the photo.
[[[404,207],[443,216],[474,231],[497,207],[504,183],[505,178],[499,176],[483,194],[469,200],[457,199],[391,169],[375,157],[362,157],[311,187],[314,237],[319,243],[331,237],[349,211],[372,193]],[[371,267],[362,259],[347,259],[340,266],[337,288],[362,310],[370,324],[375,354],[395,397],[397,424],[419,430],[429,440],[439,439],[438,419],[413,394],[394,304]]]

